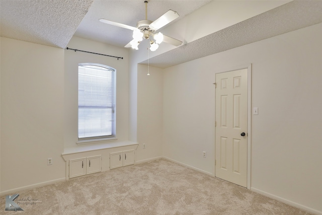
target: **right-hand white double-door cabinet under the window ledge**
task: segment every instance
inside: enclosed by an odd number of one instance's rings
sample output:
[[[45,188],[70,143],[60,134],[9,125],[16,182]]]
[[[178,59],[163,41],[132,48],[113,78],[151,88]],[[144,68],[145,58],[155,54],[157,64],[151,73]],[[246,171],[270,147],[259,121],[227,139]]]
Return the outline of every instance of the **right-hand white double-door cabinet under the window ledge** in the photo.
[[[134,164],[134,150],[111,153],[110,169]]]

